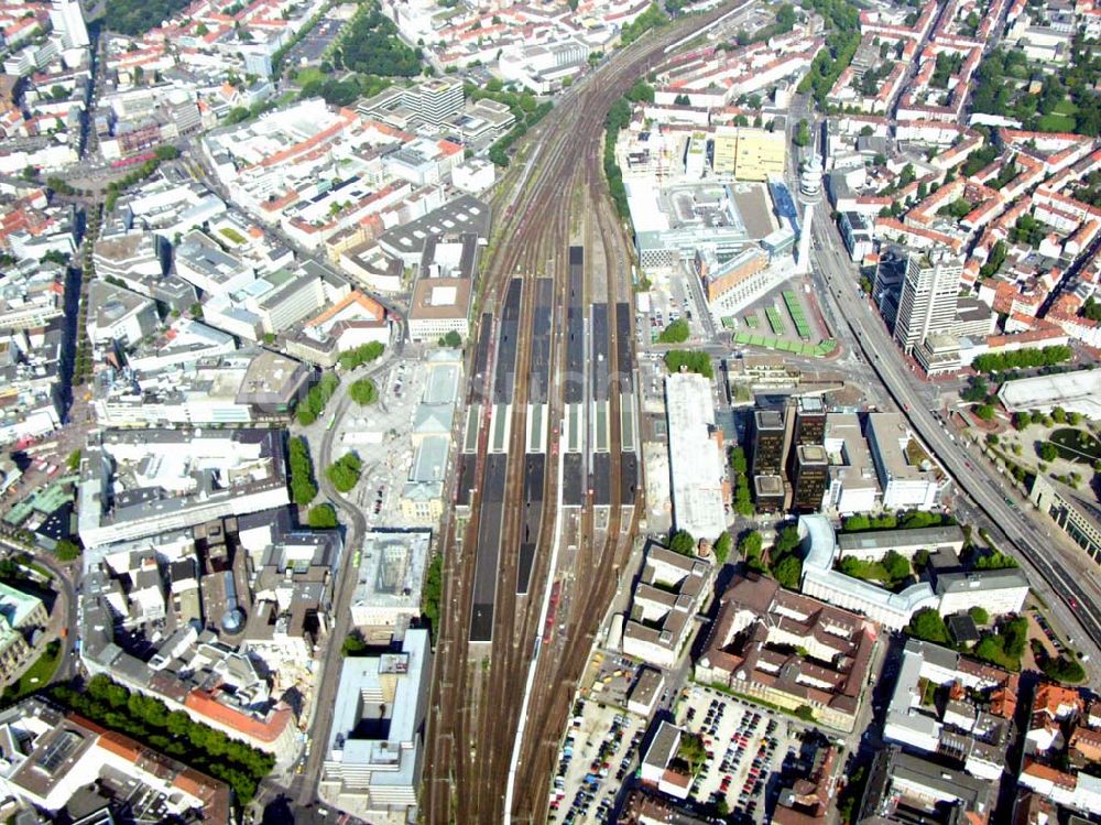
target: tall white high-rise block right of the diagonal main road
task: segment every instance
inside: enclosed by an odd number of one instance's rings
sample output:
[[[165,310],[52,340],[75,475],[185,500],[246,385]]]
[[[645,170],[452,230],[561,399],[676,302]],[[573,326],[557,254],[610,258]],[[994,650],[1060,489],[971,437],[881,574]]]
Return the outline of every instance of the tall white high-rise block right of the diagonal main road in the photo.
[[[930,335],[952,332],[962,274],[963,261],[948,252],[909,256],[894,327],[906,355]]]

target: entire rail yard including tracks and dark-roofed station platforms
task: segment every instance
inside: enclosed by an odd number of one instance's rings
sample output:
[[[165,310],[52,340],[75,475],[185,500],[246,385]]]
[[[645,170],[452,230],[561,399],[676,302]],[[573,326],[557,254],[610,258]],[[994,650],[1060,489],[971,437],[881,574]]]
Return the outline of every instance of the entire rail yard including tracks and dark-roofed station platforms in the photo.
[[[614,55],[533,131],[498,191],[444,540],[426,822],[545,818],[641,485],[631,253],[602,176],[604,116],[668,44],[723,13]]]

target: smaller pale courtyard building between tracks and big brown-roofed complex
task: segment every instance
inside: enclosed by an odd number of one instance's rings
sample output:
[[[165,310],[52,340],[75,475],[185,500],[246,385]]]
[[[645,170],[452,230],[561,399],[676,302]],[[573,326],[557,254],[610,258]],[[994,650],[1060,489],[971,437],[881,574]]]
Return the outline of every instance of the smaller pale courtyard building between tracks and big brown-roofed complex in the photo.
[[[711,564],[651,542],[623,628],[623,653],[673,667],[711,594]]]

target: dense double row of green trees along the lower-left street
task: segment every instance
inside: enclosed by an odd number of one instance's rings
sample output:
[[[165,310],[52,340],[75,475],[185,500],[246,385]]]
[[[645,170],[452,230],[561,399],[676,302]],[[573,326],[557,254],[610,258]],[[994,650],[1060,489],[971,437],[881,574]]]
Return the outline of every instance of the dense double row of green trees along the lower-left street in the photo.
[[[271,753],[193,721],[183,710],[170,710],[161,699],[131,693],[102,674],[92,676],[84,692],[59,684],[51,687],[50,695],[94,723],[220,779],[233,789],[242,806],[275,764]]]

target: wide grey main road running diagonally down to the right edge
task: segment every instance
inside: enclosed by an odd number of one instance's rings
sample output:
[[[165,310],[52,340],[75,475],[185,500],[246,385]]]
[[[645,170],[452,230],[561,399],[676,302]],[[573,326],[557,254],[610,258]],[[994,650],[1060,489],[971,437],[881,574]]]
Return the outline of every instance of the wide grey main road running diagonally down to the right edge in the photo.
[[[880,314],[858,287],[853,265],[844,254],[844,242],[827,214],[814,222],[814,262],[825,279],[827,301],[836,301],[843,318],[855,334],[868,363],[875,370],[897,403],[914,432],[920,436],[940,465],[956,481],[960,495],[971,499],[990,519],[992,536],[999,533],[1017,551],[1033,589],[1045,598],[1059,623],[1075,632],[1075,647],[1090,654],[1089,667],[1098,665],[1101,621],[1098,605],[1101,588],[1095,576],[1076,576],[1059,547],[1018,506],[1003,477],[993,473],[986,460],[969,454],[963,439],[957,439],[923,399],[922,384],[901,357]],[[1073,553],[1073,551],[1067,551]]]

